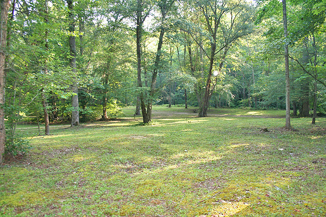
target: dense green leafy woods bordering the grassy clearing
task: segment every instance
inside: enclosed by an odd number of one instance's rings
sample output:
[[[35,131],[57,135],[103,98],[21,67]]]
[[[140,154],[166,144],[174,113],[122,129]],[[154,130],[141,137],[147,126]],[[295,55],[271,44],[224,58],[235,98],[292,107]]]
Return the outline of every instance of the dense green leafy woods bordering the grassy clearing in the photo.
[[[283,1],[2,0],[0,152],[22,119],[50,134],[51,122],[107,120],[129,105],[144,123],[154,104],[200,117],[285,109],[286,86],[291,115],[314,123],[326,113],[326,3],[287,1],[285,30]]]

